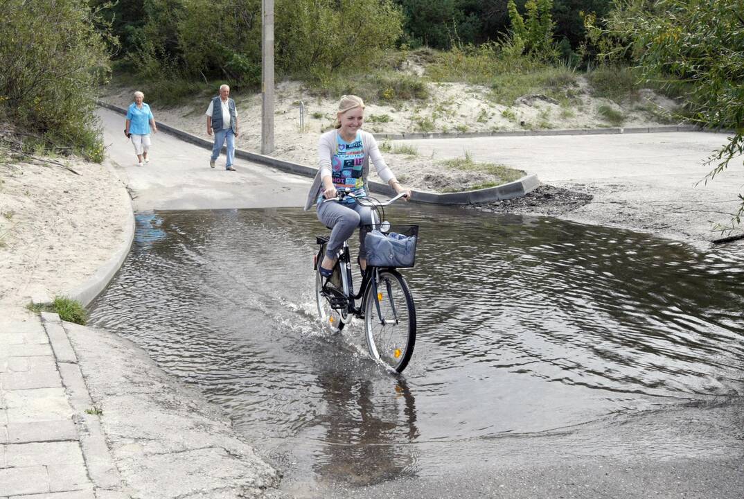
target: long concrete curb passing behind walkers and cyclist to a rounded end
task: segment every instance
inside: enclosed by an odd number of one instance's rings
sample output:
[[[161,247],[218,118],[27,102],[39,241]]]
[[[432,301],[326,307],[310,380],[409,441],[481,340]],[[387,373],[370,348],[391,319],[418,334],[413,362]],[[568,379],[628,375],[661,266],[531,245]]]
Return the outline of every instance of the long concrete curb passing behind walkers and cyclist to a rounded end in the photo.
[[[104,107],[106,109],[110,109],[112,111],[126,115],[126,109],[115,106],[113,104],[98,101],[98,105],[100,107]],[[170,125],[163,124],[160,121],[155,121],[155,123],[158,124],[158,130],[170,133],[171,135],[179,137],[179,139],[182,139],[185,142],[189,142],[190,144],[195,144],[208,150],[212,149],[213,142],[211,141],[193,136],[183,130],[179,130],[178,128],[171,127]],[[410,136],[407,136],[406,138],[410,138]],[[313,178],[315,177],[315,174],[318,173],[317,168],[300,165],[298,163],[285,161],[283,159],[277,159],[272,156],[264,156],[263,154],[251,153],[247,150],[236,148],[235,156],[237,158],[247,159],[248,161],[256,162],[261,165],[267,165],[280,171],[285,171],[289,174],[301,175],[303,177]],[[394,191],[390,188],[389,185],[382,184],[380,182],[369,182],[369,185],[370,191],[374,193],[385,195],[394,194]],[[538,185],[540,185],[540,182],[537,179],[536,175],[527,175],[519,180],[516,180],[515,182],[509,182],[504,185],[497,185],[496,187],[478,189],[477,191],[461,191],[440,194],[437,192],[415,191],[411,189],[411,193],[413,194],[411,201],[418,203],[443,205],[490,203],[491,201],[505,200],[511,199],[512,197],[524,196],[525,194],[536,188]]]

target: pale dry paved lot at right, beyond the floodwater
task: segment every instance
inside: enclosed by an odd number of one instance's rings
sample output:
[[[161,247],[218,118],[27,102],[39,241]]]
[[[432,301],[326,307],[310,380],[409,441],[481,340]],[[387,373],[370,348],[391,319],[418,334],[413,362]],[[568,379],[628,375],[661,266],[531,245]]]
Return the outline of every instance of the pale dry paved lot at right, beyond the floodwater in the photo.
[[[706,160],[727,139],[722,133],[675,132],[402,142],[437,159],[468,152],[475,161],[519,168],[541,182],[594,196],[562,218],[707,246],[721,237],[713,227],[731,220],[744,192],[740,160],[701,182],[713,168]]]

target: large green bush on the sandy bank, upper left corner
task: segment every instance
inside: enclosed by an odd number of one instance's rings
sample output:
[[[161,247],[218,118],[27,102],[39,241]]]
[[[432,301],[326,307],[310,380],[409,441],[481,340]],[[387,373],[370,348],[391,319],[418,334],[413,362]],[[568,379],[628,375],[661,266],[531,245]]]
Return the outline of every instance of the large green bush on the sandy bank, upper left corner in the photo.
[[[96,91],[109,55],[83,0],[0,0],[0,107],[45,142],[103,158]]]

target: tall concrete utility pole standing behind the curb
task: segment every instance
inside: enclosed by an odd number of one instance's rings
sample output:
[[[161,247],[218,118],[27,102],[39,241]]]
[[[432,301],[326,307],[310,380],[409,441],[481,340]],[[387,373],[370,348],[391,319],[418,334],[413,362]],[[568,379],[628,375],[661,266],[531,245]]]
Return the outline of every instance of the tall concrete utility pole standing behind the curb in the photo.
[[[274,0],[261,1],[261,153],[274,150]]]

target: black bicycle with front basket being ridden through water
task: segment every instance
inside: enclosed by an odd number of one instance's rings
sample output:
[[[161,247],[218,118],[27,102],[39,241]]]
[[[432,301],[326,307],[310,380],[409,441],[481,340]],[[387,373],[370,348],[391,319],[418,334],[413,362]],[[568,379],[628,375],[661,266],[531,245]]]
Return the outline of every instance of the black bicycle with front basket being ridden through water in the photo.
[[[319,247],[318,253],[313,257],[315,302],[318,305],[321,322],[331,331],[340,332],[353,317],[364,320],[370,357],[395,372],[403,372],[408,365],[416,342],[416,308],[413,296],[408,283],[397,268],[414,266],[412,258],[415,255],[418,226],[391,225],[385,221],[383,208],[399,200],[403,195],[405,194],[398,194],[391,200],[381,203],[372,197],[355,197],[353,194],[340,191],[338,196],[321,202],[339,201],[350,196],[362,206],[370,206],[373,209],[373,220],[360,228],[368,231],[365,236],[368,243],[373,231],[376,231],[373,235],[378,238],[377,241],[380,241],[379,237],[400,237],[399,241],[404,240],[409,246],[413,244],[411,261],[401,264],[400,261],[395,261],[392,255],[386,255],[388,260],[392,258],[392,261],[378,261],[376,255],[369,254],[370,244],[366,244],[368,264],[366,270],[362,272],[359,292],[355,293],[347,242],[344,241],[339,248],[336,265],[329,278],[321,276],[319,270],[328,243],[327,236],[316,236],[315,242]],[[379,219],[377,223],[374,220],[376,215]],[[357,302],[359,306],[356,306]]]

